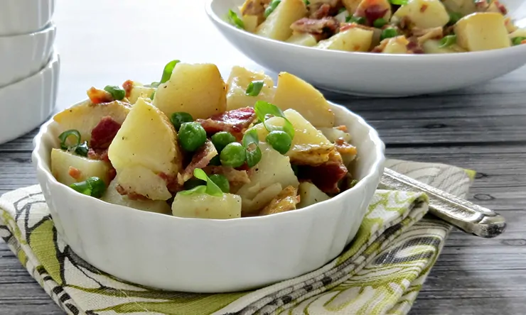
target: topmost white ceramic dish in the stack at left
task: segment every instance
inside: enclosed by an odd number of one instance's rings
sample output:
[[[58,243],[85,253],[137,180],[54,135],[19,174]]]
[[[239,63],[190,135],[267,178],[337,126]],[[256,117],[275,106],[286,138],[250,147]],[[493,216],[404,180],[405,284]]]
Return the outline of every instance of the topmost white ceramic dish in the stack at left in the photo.
[[[0,36],[33,33],[53,17],[55,0],[0,1]]]

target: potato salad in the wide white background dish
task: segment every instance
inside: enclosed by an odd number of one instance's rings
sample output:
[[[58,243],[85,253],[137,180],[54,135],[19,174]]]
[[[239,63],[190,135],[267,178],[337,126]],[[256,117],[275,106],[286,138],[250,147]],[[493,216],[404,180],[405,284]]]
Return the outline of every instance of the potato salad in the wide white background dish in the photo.
[[[498,0],[245,0],[227,20],[308,47],[436,54],[526,44]]]

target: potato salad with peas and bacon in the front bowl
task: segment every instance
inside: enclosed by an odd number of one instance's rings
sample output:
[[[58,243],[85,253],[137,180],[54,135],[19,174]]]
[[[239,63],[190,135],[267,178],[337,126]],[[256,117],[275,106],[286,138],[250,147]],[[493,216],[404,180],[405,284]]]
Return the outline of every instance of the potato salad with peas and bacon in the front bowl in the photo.
[[[353,187],[357,155],[311,84],[173,60],[161,80],[90,88],[55,115],[58,182],[112,204],[234,219],[311,206]]]

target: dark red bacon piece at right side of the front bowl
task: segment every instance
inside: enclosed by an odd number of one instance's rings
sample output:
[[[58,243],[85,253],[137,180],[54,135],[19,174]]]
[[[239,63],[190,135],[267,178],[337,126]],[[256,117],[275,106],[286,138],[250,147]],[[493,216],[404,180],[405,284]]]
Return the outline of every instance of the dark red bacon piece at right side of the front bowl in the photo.
[[[338,182],[345,177],[347,172],[347,167],[343,165],[340,153],[334,150],[329,155],[329,160],[321,165],[301,165],[299,167],[299,179],[310,180],[327,194],[337,194],[340,192]]]

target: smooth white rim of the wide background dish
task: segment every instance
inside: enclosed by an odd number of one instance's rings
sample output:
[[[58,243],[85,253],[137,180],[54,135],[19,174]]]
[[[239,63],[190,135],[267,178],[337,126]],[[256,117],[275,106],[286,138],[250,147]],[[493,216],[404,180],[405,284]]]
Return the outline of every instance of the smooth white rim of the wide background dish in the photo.
[[[329,57],[329,56],[332,56],[332,57],[343,57],[343,56],[371,57],[371,56],[377,56],[377,58],[384,58],[383,60],[386,60],[386,58],[390,57],[390,58],[397,58],[397,59],[404,59],[404,60],[407,60],[409,58],[411,60],[418,59],[420,62],[428,62],[429,59],[432,59],[432,60],[435,60],[435,61],[438,61],[437,59],[448,60],[448,59],[453,58],[453,56],[455,56],[456,58],[466,58],[466,59],[468,59],[468,58],[471,58],[471,57],[477,57],[477,56],[481,56],[481,55],[499,54],[503,50],[508,51],[508,52],[510,50],[517,50],[517,52],[518,52],[518,50],[525,50],[525,53],[526,53],[526,45],[515,45],[515,46],[510,46],[508,48],[500,48],[500,49],[494,49],[494,50],[482,50],[482,51],[471,51],[471,52],[456,52],[456,53],[451,53],[451,54],[436,54],[436,53],[434,53],[434,54],[380,54],[380,53],[375,53],[375,52],[349,52],[349,51],[343,51],[343,50],[324,50],[324,49],[319,49],[319,48],[314,48],[314,47],[308,47],[308,46],[301,46],[301,45],[295,45],[295,44],[291,44],[291,43],[286,43],[286,42],[281,41],[281,40],[274,40],[274,39],[271,39],[271,38],[266,38],[266,37],[263,37],[263,36],[255,35],[253,33],[249,33],[249,32],[247,32],[245,30],[240,30],[239,28],[236,28],[235,26],[232,26],[232,24],[227,23],[227,21],[223,20],[222,18],[220,18],[220,16],[218,16],[215,13],[215,11],[212,9],[212,4],[215,1],[221,1],[221,0],[207,0],[205,2],[205,11],[208,14],[208,17],[210,19],[212,19],[213,21],[215,21],[215,23],[220,23],[223,26],[226,26],[226,27],[230,28],[233,31],[236,31],[238,33],[241,33],[241,34],[247,36],[248,38],[253,38],[255,40],[266,41],[270,45],[285,45],[286,47],[289,47],[292,50],[308,50],[308,51],[310,51],[312,53],[323,54],[323,57]],[[376,60],[376,61],[378,61],[378,60]],[[392,62],[392,60],[389,60],[389,61]]]

